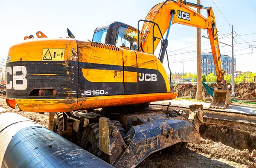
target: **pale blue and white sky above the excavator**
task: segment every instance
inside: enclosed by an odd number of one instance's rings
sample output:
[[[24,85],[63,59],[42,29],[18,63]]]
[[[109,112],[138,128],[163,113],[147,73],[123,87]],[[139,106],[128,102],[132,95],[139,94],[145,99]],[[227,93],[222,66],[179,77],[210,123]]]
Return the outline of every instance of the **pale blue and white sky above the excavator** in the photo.
[[[189,1],[189,0],[188,0]],[[237,34],[256,33],[256,2],[254,0],[213,0],[221,12],[226,17],[230,25],[234,25]],[[1,41],[0,57],[6,58],[11,45],[23,41],[24,36],[29,36],[37,31],[42,31],[48,37],[67,36],[69,28],[77,39],[92,39],[93,31],[99,25],[105,25],[113,21],[124,22],[137,27],[137,21],[144,19],[148,11],[162,0],[1,0],[0,1],[0,32]],[[189,2],[196,3],[196,0]],[[221,13],[218,11],[212,0],[201,0],[203,6],[212,6],[218,34],[227,34],[231,28]],[[201,10],[201,14],[207,17],[207,11]],[[202,35],[207,35],[206,30],[201,31]],[[219,36],[219,38],[224,36]],[[230,36],[227,36],[230,37]],[[241,36],[250,45],[256,47],[256,34]],[[236,43],[244,40],[235,36]],[[209,41],[202,38],[202,42]],[[219,41],[231,45],[231,37],[219,39]],[[195,58],[196,46],[186,48],[196,44],[196,28],[189,26],[172,25],[169,34],[168,51],[172,62],[175,60],[188,60]],[[220,44],[220,46],[224,46]],[[180,48],[186,48],[178,50]],[[209,42],[202,44],[202,50],[210,48]],[[221,47],[221,53],[231,56],[231,47]],[[236,70],[256,72],[256,48],[249,48],[247,43],[234,45],[234,55],[236,57]],[[236,51],[237,50],[237,51]],[[202,52],[209,52],[204,50]],[[251,53],[240,55],[244,53]],[[174,54],[186,53],[186,54]],[[237,56],[236,56],[237,55]],[[165,60],[166,61],[166,60]],[[178,61],[179,62],[179,61]],[[166,64],[164,64],[166,65]],[[172,63],[172,72],[182,72],[181,63]],[[167,68],[166,68],[167,70]],[[196,61],[184,62],[184,72],[196,72]]]

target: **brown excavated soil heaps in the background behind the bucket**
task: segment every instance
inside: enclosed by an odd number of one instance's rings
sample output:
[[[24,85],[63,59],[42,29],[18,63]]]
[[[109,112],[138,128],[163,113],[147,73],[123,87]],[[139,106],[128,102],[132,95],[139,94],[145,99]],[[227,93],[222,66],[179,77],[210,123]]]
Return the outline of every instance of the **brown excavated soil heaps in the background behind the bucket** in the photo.
[[[227,84],[227,85],[230,85],[230,84]],[[212,88],[215,88],[216,84],[210,84],[209,86]],[[197,86],[192,84],[178,84],[176,87],[173,87],[173,89],[176,89],[179,91],[178,96],[184,96],[184,92],[186,90],[186,96],[189,96],[189,93],[191,91],[192,97],[195,97],[196,95],[196,88]],[[205,93],[206,97],[210,96],[206,92],[204,86],[202,86],[202,91]],[[232,89],[230,89],[230,94],[231,93],[232,93]],[[235,84],[235,95],[236,95],[236,98],[256,98],[256,83],[250,82],[250,83]]]

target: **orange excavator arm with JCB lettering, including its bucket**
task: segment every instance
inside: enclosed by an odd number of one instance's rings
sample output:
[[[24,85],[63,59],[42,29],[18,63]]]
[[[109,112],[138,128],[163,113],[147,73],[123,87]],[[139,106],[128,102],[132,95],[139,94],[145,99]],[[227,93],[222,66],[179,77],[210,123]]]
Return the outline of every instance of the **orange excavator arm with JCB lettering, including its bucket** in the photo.
[[[206,9],[208,13],[207,18],[190,7]],[[222,70],[221,67],[221,53],[219,50],[217,35],[218,31],[212,8],[207,8],[202,5],[189,3],[183,0],[166,0],[165,2],[159,3],[151,8],[145,20],[157,23],[163,34],[167,31],[165,39],[165,43],[167,42],[167,44],[169,30],[171,25],[174,23],[207,29],[217,76],[217,88],[215,89],[216,94],[214,94],[215,98],[212,100],[211,107],[226,108],[228,104],[230,104],[230,93],[227,90],[226,81],[224,80],[225,71]],[[140,31],[140,38],[138,41],[140,42],[140,48],[138,48],[138,50],[153,54],[162,37],[160,31],[152,23],[144,22]],[[152,32],[154,32],[154,37],[151,35]],[[162,50],[163,49],[164,48],[162,48]],[[161,56],[160,61],[163,62],[164,53],[161,54]]]

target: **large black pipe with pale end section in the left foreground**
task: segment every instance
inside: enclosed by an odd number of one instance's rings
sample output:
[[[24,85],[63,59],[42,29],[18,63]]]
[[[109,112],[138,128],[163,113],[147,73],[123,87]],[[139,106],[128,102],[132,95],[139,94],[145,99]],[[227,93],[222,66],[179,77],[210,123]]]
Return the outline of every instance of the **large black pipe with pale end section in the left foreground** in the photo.
[[[0,168],[23,167],[113,168],[40,123],[15,113],[0,114]]]

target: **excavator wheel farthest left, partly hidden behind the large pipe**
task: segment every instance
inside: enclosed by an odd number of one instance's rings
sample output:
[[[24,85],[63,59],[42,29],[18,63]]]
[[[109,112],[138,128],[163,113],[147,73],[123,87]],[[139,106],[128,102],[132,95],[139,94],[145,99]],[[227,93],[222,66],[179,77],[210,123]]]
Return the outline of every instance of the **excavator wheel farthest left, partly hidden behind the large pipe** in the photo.
[[[63,113],[55,114],[52,121],[52,131],[73,142],[72,123],[67,123],[67,131],[63,131]]]

